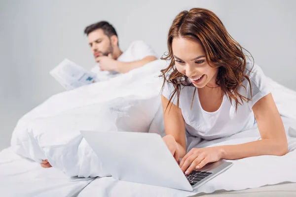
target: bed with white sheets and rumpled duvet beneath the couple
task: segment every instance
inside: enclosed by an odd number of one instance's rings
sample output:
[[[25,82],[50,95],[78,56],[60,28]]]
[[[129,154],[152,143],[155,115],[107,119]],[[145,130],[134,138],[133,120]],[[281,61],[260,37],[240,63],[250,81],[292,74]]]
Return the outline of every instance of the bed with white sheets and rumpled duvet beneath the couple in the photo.
[[[11,147],[0,152],[0,192],[4,197],[189,197],[295,196],[296,92],[269,79],[288,136],[289,153],[232,161],[234,165],[193,192],[114,180],[87,145],[80,130],[158,132],[163,135],[157,60],[143,68],[55,95],[22,117]],[[121,84],[125,84],[124,87]],[[110,90],[116,90],[110,92]],[[109,91],[104,98],[102,91]],[[103,113],[104,112],[104,113]],[[138,114],[141,114],[139,116]],[[200,147],[259,139],[256,126]],[[15,154],[17,153],[17,154]],[[52,168],[38,163],[48,159]],[[268,186],[269,185],[269,186]]]

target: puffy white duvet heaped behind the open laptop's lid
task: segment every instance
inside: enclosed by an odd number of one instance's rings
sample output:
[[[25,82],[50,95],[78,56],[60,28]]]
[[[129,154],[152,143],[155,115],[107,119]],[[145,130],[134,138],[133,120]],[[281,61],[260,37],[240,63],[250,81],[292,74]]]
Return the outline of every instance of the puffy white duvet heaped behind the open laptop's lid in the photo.
[[[148,132],[160,107],[157,76],[164,66],[165,61],[153,61],[109,81],[49,98],[18,121],[13,150],[38,163],[47,159],[70,176],[108,175],[79,131]]]

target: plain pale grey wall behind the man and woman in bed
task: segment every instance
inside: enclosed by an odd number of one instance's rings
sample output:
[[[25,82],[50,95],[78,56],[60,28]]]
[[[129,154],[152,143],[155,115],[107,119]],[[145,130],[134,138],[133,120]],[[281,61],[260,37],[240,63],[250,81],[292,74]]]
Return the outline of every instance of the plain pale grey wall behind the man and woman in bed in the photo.
[[[108,20],[122,50],[142,39],[161,56],[172,20],[192,7],[214,11],[267,76],[296,90],[295,0],[0,0],[0,150],[23,114],[63,91],[54,66],[94,66],[87,25]]]

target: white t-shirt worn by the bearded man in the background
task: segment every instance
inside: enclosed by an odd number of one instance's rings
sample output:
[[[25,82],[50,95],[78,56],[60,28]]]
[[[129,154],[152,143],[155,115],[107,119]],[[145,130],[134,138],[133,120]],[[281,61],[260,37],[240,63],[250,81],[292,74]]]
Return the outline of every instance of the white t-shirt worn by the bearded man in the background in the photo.
[[[135,62],[142,60],[147,56],[155,56],[157,58],[156,53],[148,44],[142,40],[136,40],[133,41],[128,49],[117,58],[117,61]],[[114,71],[102,71],[100,70],[99,64],[94,66],[91,71],[97,74],[98,81],[105,81],[116,76],[117,74],[120,74]]]

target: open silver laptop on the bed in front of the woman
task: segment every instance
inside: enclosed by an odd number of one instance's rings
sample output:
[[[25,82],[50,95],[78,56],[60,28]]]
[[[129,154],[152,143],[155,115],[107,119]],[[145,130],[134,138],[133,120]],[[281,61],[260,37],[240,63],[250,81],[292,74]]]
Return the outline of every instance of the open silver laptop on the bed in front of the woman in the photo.
[[[80,131],[114,179],[193,191],[232,163],[206,164],[185,175],[156,133]]]

